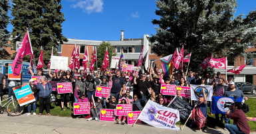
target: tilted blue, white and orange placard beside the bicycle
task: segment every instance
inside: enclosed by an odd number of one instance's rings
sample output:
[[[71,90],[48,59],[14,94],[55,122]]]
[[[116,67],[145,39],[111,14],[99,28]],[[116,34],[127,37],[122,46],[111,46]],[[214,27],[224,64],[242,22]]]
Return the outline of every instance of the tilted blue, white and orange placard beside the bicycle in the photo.
[[[35,101],[29,84],[23,84],[13,88],[13,92],[19,102],[19,105],[23,106]]]

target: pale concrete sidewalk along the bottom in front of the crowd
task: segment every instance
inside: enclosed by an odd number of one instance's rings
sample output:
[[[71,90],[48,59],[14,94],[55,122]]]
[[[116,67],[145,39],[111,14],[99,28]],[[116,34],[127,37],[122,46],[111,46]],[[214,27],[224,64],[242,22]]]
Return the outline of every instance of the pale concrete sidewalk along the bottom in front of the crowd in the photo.
[[[203,133],[197,129],[184,127],[183,131],[158,129],[150,125],[136,124],[119,125],[106,121],[87,121],[86,119],[72,119],[71,117],[57,117],[42,115],[0,115],[0,134],[2,133]],[[206,129],[205,133],[228,133],[223,129]]]

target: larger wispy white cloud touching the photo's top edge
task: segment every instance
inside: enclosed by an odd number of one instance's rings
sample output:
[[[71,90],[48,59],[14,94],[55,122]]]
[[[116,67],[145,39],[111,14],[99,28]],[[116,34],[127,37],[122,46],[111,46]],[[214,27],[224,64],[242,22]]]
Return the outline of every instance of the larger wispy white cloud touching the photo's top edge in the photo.
[[[76,8],[79,7],[82,9],[84,13],[102,13],[102,7],[103,1],[102,0],[84,0],[84,1],[78,1],[76,4],[71,5],[71,7]]]

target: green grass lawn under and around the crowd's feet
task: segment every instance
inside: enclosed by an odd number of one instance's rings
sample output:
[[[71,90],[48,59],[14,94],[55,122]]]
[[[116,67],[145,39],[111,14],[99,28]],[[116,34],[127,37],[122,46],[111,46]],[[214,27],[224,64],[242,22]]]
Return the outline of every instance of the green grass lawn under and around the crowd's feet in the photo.
[[[72,105],[71,103],[69,104],[70,110],[66,108],[66,103],[64,103],[64,109],[61,111],[61,99],[59,96],[57,96],[57,105],[53,106],[53,103],[51,103],[51,110],[50,113],[51,115],[55,116],[60,116],[60,117],[76,117],[76,115],[73,114],[72,111]],[[248,113],[245,113],[247,117],[256,117],[256,99],[255,98],[248,98],[247,101],[245,101],[250,106],[250,111]],[[209,105],[208,105],[209,106]],[[33,108],[31,108],[31,111],[33,111]],[[215,128],[215,129],[223,129],[224,125],[220,121],[215,120],[215,115],[210,115],[209,114],[209,107],[207,110],[207,127]],[[25,111],[23,113],[27,113],[27,105],[25,105]],[[31,112],[32,113],[32,112]],[[39,114],[39,102],[37,103],[37,115]],[[46,115],[46,111],[44,110],[43,115]],[[221,114],[219,114],[219,117],[221,117]],[[192,119],[189,119],[188,122],[186,123],[186,126],[190,126],[190,122]],[[247,120],[248,121],[248,120]],[[181,120],[176,123],[176,125],[184,125],[185,121]],[[256,131],[256,121],[248,121],[249,126],[251,128],[251,131]],[[233,120],[231,119],[231,124],[233,124]]]

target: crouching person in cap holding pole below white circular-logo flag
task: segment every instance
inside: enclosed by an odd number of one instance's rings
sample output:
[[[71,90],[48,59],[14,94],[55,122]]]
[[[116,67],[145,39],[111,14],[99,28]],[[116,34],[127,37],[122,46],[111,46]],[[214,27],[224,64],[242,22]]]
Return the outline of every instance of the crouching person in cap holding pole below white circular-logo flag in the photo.
[[[205,95],[205,88],[202,88],[201,91],[202,91],[202,93],[201,93],[201,95],[198,96],[197,105],[198,105],[201,113],[203,113],[203,116],[207,118],[207,98]],[[195,121],[192,121],[190,123],[190,128],[193,128],[193,127],[198,127],[197,124],[195,123]],[[201,129],[205,129],[205,127],[201,127]]]

